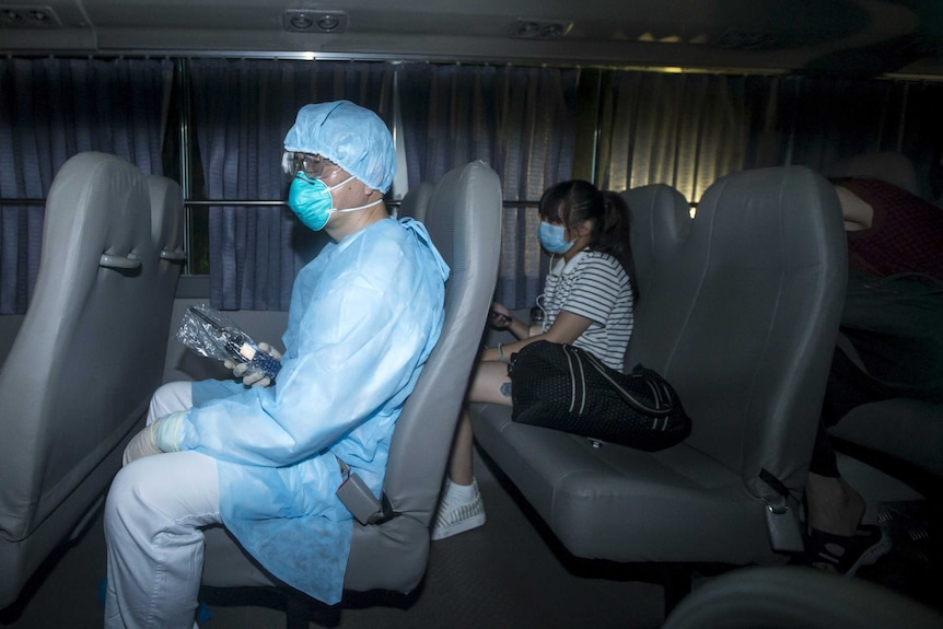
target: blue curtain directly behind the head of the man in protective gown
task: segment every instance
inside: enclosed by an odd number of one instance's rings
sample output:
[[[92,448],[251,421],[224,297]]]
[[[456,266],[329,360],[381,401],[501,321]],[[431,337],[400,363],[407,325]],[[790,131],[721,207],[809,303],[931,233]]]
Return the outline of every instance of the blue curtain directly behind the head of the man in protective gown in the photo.
[[[282,140],[307,103],[347,98],[389,124],[393,66],[194,59],[193,120],[209,208],[210,301],[224,310],[288,310],[298,271],[324,244],[280,203]],[[237,201],[271,200],[247,206]]]

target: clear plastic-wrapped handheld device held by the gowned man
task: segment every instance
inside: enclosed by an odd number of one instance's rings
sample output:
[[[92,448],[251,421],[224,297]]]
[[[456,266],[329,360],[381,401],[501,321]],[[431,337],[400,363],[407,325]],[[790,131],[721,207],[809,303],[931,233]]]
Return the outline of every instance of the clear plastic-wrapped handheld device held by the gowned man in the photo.
[[[258,345],[218,310],[190,306],[184,313],[177,340],[200,356],[247,363],[246,373],[264,373],[272,382],[281,362],[258,349]]]

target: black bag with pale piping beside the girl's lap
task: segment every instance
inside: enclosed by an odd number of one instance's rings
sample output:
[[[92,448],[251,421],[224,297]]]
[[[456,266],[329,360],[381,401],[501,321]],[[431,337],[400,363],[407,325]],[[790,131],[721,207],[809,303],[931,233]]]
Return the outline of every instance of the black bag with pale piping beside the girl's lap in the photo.
[[[625,374],[570,345],[539,340],[511,356],[512,419],[654,452],[684,441],[691,420],[674,388],[637,365]]]

